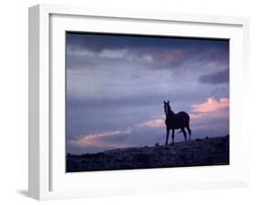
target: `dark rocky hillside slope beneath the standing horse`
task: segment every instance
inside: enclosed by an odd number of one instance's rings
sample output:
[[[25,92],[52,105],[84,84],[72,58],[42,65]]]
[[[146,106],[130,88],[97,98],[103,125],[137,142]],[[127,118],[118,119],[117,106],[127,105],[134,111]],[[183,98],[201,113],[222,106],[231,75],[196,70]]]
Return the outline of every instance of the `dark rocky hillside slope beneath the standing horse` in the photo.
[[[229,164],[229,135],[176,142],[174,145],[67,154],[67,172]]]

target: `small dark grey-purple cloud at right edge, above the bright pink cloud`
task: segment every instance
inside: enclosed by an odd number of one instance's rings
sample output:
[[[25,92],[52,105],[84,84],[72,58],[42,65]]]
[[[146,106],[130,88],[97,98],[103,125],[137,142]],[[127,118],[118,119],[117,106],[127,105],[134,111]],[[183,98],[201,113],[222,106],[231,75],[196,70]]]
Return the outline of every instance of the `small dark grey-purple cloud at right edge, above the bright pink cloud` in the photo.
[[[200,76],[200,83],[218,84],[218,83],[228,83],[230,80],[229,69],[224,71],[219,71],[217,73],[204,74]]]

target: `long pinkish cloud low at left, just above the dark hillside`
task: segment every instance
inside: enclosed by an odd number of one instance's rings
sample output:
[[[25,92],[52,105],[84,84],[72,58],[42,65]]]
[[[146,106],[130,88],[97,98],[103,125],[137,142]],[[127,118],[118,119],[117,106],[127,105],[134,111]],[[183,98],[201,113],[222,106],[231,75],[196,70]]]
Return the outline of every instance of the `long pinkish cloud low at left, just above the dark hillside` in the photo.
[[[80,135],[77,139],[70,140],[69,145],[77,147],[115,147],[123,148],[128,147],[128,144],[125,142],[120,142],[118,140],[113,140],[113,138],[120,138],[122,135],[127,135],[131,133],[130,131],[114,131],[114,132],[97,132],[89,133],[86,135]]]

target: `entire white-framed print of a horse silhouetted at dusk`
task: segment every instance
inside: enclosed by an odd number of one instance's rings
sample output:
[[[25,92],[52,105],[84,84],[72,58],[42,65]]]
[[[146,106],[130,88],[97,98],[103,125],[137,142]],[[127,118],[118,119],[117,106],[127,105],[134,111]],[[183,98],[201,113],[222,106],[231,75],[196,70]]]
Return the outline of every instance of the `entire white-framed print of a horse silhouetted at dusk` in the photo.
[[[29,195],[248,184],[248,20],[29,9]]]

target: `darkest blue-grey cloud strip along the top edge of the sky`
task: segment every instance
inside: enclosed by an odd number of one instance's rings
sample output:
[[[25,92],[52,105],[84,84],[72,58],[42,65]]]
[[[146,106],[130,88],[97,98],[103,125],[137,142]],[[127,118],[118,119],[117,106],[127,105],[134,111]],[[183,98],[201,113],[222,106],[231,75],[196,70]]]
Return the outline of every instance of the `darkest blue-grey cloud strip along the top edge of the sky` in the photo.
[[[71,49],[87,49],[97,52],[104,49],[152,47],[161,49],[193,48],[196,50],[205,50],[218,48],[226,51],[229,50],[227,40],[145,36],[146,35],[67,33],[67,46],[70,46]]]

